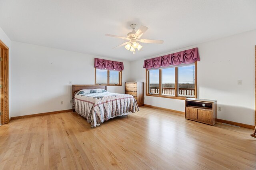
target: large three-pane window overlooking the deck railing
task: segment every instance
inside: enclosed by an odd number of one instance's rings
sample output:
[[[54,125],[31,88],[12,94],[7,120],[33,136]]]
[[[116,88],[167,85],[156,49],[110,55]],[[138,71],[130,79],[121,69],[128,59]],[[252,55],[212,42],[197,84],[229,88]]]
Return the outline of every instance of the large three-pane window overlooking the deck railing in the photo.
[[[197,62],[146,70],[146,95],[175,99],[196,97],[196,66]]]

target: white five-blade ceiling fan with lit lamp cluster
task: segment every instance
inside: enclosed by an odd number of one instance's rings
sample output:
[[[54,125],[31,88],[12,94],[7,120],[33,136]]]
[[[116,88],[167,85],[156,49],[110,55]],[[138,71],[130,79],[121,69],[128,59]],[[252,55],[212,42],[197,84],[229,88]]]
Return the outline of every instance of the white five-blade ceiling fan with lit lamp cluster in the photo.
[[[128,42],[122,43],[121,45],[118,45],[118,46],[114,47],[113,49],[124,46],[127,50],[132,51],[135,54],[135,49],[137,49],[139,51],[142,48],[142,45],[140,45],[139,42],[141,42],[141,43],[159,43],[159,44],[164,43],[163,40],[140,39],[141,36],[148,30],[148,27],[140,26],[140,28],[137,31],[135,31],[137,25],[132,24],[130,26],[132,28],[132,32],[129,32],[127,34],[127,37],[105,34],[105,36],[110,36],[110,37],[114,37],[114,38],[121,38],[121,39],[124,39],[124,40],[129,40]]]

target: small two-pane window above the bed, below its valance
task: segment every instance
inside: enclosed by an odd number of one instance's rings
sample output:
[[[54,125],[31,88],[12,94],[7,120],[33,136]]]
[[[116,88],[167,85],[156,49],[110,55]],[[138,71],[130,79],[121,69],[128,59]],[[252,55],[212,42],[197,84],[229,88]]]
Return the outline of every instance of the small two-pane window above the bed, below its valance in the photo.
[[[122,85],[122,71],[95,68],[95,84]]]

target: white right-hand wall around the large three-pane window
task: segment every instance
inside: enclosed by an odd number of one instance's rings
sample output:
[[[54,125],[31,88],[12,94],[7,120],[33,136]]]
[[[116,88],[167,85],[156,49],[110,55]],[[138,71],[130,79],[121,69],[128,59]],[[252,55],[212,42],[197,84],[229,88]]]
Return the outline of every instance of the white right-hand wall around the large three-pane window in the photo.
[[[198,98],[218,100],[218,119],[254,125],[255,45],[256,30],[152,57],[198,47]],[[143,63],[144,59],[131,62],[133,81],[146,81]],[[184,111],[183,100],[145,96],[144,103]]]

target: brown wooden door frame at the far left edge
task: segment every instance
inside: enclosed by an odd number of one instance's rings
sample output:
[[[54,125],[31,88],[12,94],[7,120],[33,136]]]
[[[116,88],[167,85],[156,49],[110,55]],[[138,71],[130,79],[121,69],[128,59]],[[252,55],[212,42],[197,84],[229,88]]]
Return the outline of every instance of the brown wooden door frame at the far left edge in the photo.
[[[1,125],[9,123],[9,48],[0,40]]]

